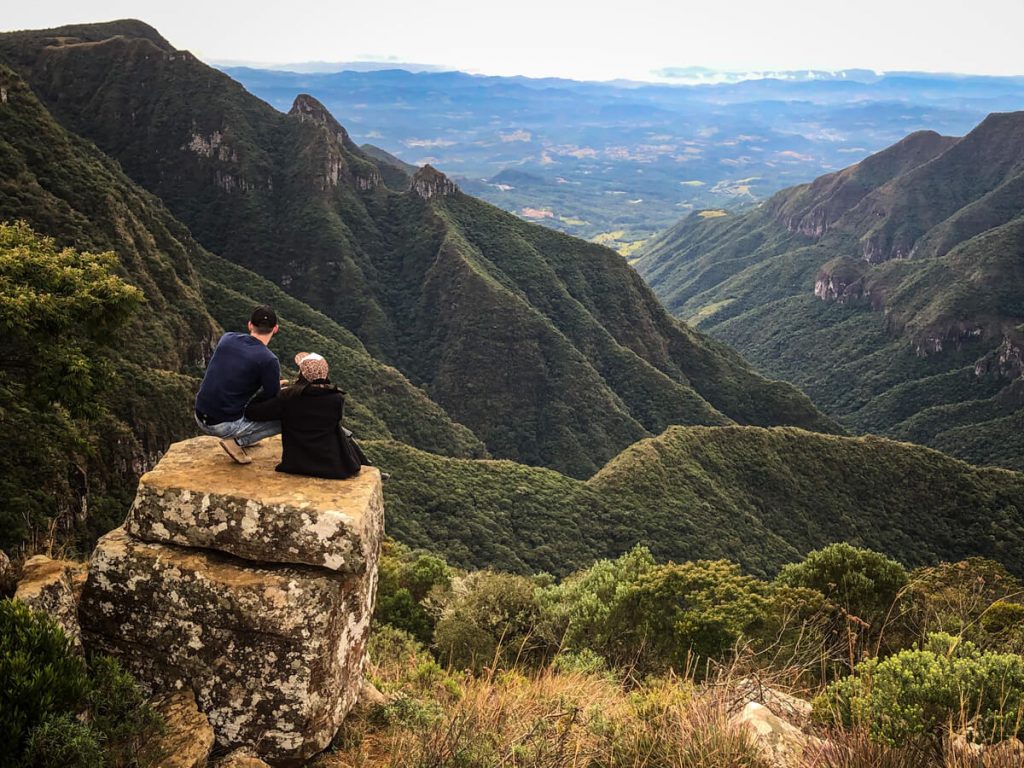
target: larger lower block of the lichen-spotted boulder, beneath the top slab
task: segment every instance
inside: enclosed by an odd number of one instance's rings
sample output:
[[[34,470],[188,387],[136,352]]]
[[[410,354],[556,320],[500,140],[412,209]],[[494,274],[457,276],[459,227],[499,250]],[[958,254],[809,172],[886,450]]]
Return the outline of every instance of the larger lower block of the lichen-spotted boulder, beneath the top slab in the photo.
[[[347,573],[118,528],[96,545],[79,617],[90,650],[153,689],[195,691],[221,746],[291,765],[330,742],[358,695],[376,586],[376,551]]]

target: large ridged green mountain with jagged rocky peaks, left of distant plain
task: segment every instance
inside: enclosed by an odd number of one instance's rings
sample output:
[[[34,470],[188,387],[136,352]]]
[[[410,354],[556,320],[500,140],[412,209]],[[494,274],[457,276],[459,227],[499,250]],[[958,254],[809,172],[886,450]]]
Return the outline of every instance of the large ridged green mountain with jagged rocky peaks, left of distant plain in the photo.
[[[400,169],[309,96],[279,113],[137,22],[5,34],[0,58],[205,248],[350,330],[494,456],[586,477],[672,424],[836,428],[613,251],[429,166],[389,188]]]

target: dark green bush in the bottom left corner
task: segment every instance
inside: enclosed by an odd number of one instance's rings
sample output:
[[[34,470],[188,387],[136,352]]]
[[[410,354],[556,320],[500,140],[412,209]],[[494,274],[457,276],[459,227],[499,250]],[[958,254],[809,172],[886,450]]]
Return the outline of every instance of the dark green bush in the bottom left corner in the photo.
[[[29,734],[47,717],[76,714],[89,695],[85,662],[50,618],[0,601],[0,766],[17,765]]]

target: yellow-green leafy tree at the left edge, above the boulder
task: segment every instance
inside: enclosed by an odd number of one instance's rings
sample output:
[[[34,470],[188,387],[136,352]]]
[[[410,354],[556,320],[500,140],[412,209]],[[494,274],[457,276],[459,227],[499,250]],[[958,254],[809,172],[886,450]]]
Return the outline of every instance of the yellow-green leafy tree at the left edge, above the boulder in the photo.
[[[83,493],[114,371],[103,354],[142,301],[113,253],[57,248],[0,223],[0,547],[19,547]]]

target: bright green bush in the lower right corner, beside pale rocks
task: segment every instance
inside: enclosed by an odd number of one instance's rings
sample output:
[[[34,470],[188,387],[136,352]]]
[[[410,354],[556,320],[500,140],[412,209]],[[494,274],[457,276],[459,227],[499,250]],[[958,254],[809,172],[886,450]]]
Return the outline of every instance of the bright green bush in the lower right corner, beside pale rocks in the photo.
[[[892,745],[941,738],[947,727],[969,730],[979,741],[1001,741],[1024,733],[1024,657],[933,634],[919,650],[861,662],[825,689],[814,712]]]

